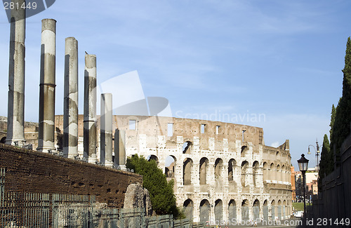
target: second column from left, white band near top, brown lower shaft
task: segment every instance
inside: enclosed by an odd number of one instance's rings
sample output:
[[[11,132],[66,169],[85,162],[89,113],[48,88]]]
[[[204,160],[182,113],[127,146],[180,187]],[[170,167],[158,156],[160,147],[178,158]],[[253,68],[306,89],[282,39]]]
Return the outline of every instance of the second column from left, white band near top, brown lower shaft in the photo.
[[[55,57],[56,21],[41,20],[39,92],[39,152],[55,150]]]

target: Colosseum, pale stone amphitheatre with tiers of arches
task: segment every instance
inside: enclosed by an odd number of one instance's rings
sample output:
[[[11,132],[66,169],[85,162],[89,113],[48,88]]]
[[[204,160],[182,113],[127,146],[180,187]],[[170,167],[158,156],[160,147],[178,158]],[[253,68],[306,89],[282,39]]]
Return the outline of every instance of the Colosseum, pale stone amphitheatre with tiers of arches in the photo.
[[[55,116],[60,132],[62,119]],[[126,132],[126,156],[155,159],[168,180],[173,178],[177,204],[194,222],[291,215],[289,140],[269,147],[262,128],[217,121],[114,116],[112,122],[113,129]],[[83,156],[82,115],[78,131]]]

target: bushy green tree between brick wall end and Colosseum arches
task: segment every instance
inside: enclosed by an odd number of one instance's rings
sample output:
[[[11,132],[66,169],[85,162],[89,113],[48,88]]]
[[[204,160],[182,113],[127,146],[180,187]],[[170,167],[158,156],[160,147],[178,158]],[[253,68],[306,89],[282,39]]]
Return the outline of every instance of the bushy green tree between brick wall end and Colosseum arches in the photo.
[[[157,215],[180,216],[180,210],[176,206],[176,196],[173,192],[174,181],[167,182],[166,175],[157,167],[156,161],[153,159],[147,161],[143,156],[135,154],[128,157],[126,167],[143,175],[143,187],[149,191],[152,209]]]

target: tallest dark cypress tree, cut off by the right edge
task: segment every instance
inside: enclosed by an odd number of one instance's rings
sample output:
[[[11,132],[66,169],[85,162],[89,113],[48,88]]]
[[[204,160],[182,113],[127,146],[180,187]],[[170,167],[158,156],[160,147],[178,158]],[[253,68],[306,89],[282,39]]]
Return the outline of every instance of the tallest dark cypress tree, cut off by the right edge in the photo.
[[[345,138],[350,135],[351,121],[351,40],[346,43],[345,67],[343,69],[343,96],[336,107],[335,121],[331,129],[331,146],[334,153],[340,155],[340,147]],[[331,123],[332,124],[332,123]]]

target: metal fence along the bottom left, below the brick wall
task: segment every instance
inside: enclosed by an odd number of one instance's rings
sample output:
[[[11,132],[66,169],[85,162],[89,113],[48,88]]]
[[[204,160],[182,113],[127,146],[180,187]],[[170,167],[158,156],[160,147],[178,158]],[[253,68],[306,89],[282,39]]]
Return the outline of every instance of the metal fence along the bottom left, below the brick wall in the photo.
[[[0,168],[0,227],[18,228],[190,228],[189,219],[146,217],[143,208],[105,208],[95,196],[6,192]],[[196,225],[204,227],[204,225]]]

